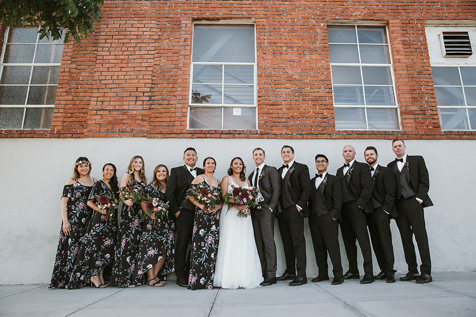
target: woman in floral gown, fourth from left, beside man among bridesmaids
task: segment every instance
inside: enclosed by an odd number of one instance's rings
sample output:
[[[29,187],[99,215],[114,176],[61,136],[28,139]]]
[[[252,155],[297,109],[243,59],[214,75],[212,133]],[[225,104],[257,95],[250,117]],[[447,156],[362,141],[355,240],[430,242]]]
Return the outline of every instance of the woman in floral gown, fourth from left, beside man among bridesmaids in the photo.
[[[150,198],[159,198],[165,202],[165,188],[168,180],[169,169],[163,164],[158,165],[154,169],[152,183],[146,188],[147,195]],[[146,203],[142,202],[140,207],[145,212]],[[142,235],[139,244],[136,274],[147,273],[147,283],[150,286],[161,287],[166,283],[161,278],[162,275],[170,273],[161,271],[161,269],[168,259],[167,253],[172,249],[171,244],[174,243],[174,239],[173,234],[171,234],[169,214],[167,213],[163,219],[159,218],[157,221],[154,219],[146,216],[142,221]],[[171,262],[169,261],[169,263]]]

